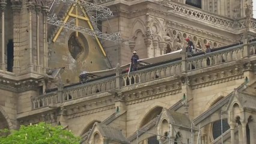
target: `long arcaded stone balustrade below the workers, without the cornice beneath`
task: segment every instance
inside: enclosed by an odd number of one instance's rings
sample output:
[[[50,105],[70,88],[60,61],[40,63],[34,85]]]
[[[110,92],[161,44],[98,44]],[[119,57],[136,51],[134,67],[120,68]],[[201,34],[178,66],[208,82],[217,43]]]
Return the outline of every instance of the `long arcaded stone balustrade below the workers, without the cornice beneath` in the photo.
[[[109,92],[117,88],[117,80],[121,81],[121,88],[138,83],[146,83],[169,76],[179,75],[186,71],[201,70],[202,68],[212,67],[219,64],[237,61],[245,57],[245,46],[243,44],[228,47],[226,49],[216,50],[215,52],[193,56],[178,61],[165,64],[147,66],[138,71],[119,76],[107,77],[104,79],[94,80],[80,85],[64,88],[61,91],[51,92],[49,94],[32,97],[32,109],[50,106],[51,104],[62,103],[65,101],[75,100],[82,97],[88,97],[101,92]],[[249,55],[256,55],[256,41],[249,44]],[[181,53],[181,55],[184,55]],[[185,64],[185,65],[183,65]]]

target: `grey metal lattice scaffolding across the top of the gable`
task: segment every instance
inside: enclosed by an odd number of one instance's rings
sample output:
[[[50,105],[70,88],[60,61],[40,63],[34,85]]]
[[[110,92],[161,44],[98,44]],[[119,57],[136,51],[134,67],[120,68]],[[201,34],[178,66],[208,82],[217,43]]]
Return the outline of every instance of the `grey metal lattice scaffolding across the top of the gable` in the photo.
[[[58,17],[57,14],[55,14],[54,8],[59,4],[65,4],[70,6],[78,7],[82,10],[85,10],[84,12],[87,15],[90,15],[90,21],[94,25],[94,29],[90,28],[84,28],[82,26],[74,25],[73,21],[76,18],[73,18],[73,20],[70,20],[69,22],[64,22],[62,20],[62,17]],[[93,13],[93,14],[91,14]],[[96,21],[97,20],[108,20],[108,17],[113,16],[112,11],[108,7],[103,7],[101,5],[93,4],[91,2],[83,1],[83,0],[53,0],[49,1],[49,14],[47,17],[47,22],[51,25],[60,26],[62,28],[70,29],[73,31],[78,31],[83,34],[88,34],[93,37],[102,38],[104,40],[109,41],[116,41],[121,40],[121,34],[120,32],[114,32],[112,34],[106,34],[103,32],[100,32],[99,29],[97,29]],[[110,25],[109,25],[110,26]]]

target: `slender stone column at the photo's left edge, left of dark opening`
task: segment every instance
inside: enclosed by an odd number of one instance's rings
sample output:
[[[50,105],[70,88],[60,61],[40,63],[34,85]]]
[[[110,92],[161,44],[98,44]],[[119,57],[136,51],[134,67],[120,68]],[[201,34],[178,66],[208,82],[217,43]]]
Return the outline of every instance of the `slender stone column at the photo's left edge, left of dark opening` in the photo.
[[[6,7],[6,2],[0,2],[0,9],[1,9],[1,13],[2,13],[2,62],[1,62],[1,67],[2,70],[5,71],[5,43],[4,43],[4,10]]]

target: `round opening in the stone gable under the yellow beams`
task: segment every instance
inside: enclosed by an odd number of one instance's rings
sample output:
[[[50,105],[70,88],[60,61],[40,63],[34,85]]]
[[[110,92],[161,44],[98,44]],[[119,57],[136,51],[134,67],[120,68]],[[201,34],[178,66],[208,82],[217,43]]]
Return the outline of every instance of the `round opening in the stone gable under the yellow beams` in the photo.
[[[70,34],[69,41],[69,52],[76,61],[82,61],[87,58],[89,45],[87,39],[83,34],[73,32]]]

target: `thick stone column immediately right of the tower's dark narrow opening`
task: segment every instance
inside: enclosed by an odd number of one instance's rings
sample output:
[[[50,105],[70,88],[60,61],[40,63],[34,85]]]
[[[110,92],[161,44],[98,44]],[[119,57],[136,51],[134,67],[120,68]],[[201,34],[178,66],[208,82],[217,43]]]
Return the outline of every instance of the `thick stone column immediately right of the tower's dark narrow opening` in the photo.
[[[11,5],[13,10],[13,73],[20,73],[19,13],[21,5]]]

